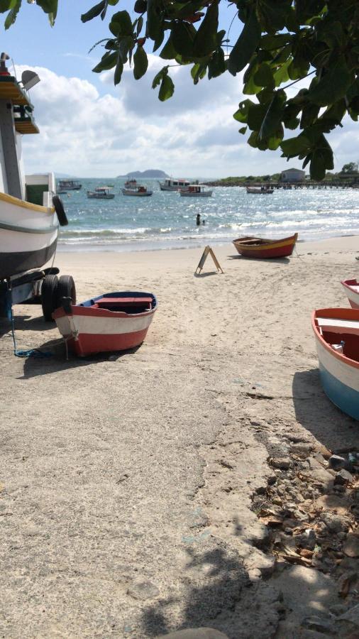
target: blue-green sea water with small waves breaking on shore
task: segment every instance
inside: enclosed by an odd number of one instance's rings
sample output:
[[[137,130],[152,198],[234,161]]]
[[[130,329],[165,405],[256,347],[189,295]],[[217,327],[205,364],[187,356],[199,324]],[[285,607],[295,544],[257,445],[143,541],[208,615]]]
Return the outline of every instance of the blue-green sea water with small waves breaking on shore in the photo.
[[[243,187],[214,187],[212,197],[184,198],[145,180],[153,195],[126,197],[125,180],[82,179],[82,190],[61,195],[69,218],[59,249],[141,251],[226,244],[241,235],[299,241],[359,234],[359,189],[276,190],[250,195]],[[114,200],[89,200],[87,190],[113,184]],[[210,187],[209,187],[210,188]],[[196,226],[196,216],[206,224]]]

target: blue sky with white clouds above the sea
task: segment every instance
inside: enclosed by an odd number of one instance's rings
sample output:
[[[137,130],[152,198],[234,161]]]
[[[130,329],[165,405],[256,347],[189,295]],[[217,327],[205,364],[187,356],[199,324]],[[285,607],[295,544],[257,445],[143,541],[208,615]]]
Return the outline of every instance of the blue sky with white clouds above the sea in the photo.
[[[82,178],[109,178],[160,169],[174,177],[224,178],[301,168],[297,160],[287,164],[280,151],[251,148],[246,136],[238,133],[233,113],[243,99],[241,75],[226,73],[194,86],[190,67],[174,67],[170,71],[175,94],[160,102],[158,89],[151,84],[165,62],[150,54],[143,78],[135,80],[127,65],[121,83],[114,87],[112,71],[92,72],[104,49],[89,50],[109,34],[111,13],[123,9],[131,13],[133,3],[121,0],[104,22],[94,18],[85,24],[80,15],[96,0],[60,0],[59,4],[53,28],[45,13],[25,0],[8,31],[1,26],[4,14],[0,14],[1,50],[13,60],[18,79],[23,70],[33,69],[41,80],[30,92],[40,135],[23,136],[27,173],[53,170]],[[228,28],[235,11],[234,6],[223,6],[221,28]],[[231,40],[240,31],[236,18]],[[358,161],[358,123],[348,119],[328,141],[335,170]]]

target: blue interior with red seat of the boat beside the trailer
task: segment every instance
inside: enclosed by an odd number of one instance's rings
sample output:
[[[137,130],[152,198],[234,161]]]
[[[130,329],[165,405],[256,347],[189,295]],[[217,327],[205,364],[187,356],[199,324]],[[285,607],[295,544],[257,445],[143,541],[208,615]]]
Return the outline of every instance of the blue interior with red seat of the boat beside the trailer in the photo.
[[[98,295],[98,297],[94,297],[92,300],[82,302],[79,306],[137,315],[154,310],[155,307],[157,307],[157,299],[153,293],[126,290],[119,291],[118,293]]]

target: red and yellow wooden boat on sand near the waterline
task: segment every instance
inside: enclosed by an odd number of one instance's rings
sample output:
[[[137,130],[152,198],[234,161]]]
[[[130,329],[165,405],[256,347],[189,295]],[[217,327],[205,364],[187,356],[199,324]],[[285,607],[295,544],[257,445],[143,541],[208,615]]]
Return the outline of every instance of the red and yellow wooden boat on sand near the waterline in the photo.
[[[292,255],[298,234],[289,237],[270,240],[252,235],[238,237],[233,240],[234,246],[240,255],[251,258],[281,258]]]

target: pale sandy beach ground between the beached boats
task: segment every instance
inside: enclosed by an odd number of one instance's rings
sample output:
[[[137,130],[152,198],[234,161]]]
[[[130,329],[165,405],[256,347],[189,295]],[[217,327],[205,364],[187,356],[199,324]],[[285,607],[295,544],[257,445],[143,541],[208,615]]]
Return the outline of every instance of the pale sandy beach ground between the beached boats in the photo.
[[[279,261],[214,250],[224,273],[208,257],[198,277],[200,249],[57,254],[78,301],[157,295],[135,352],[67,361],[41,308],[19,305],[18,348],[50,353],[20,359],[1,320],[4,638],[210,626],[315,639],[302,618],[338,603],[327,574],[276,571],[253,495],[292,444],[358,445],[322,391],[310,319],[348,306],[340,281],[358,276],[359,238],[299,242]]]

